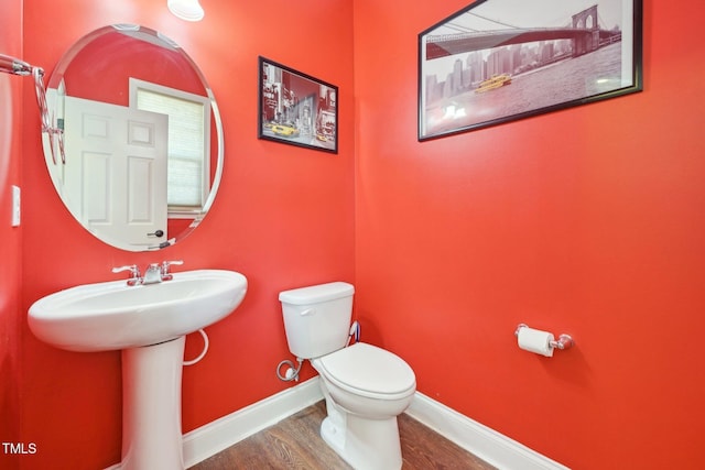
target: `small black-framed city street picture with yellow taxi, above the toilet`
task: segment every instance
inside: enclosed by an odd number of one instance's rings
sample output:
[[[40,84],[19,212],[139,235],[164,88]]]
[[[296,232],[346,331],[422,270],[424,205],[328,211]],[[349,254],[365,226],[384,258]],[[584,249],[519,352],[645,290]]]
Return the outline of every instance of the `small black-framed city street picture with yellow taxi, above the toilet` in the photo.
[[[338,153],[338,87],[259,57],[258,138]]]

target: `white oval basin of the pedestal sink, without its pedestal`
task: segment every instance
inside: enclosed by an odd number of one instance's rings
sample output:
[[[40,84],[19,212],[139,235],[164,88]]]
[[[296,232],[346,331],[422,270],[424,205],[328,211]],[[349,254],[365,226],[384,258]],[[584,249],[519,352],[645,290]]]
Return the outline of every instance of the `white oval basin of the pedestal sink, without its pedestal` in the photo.
[[[30,328],[69,351],[110,351],[175,339],[213,325],[240,305],[246,277],[234,271],[174,273],[158,284],[124,281],[59,291],[30,307]]]

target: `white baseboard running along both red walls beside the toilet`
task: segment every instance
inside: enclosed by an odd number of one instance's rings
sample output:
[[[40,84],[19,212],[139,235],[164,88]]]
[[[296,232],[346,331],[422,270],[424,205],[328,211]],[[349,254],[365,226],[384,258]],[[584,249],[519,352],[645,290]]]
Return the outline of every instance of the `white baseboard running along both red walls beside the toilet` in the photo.
[[[323,400],[318,381],[315,376],[186,433],[186,468]],[[420,392],[406,414],[500,470],[570,470]],[[108,470],[119,469],[118,463]]]

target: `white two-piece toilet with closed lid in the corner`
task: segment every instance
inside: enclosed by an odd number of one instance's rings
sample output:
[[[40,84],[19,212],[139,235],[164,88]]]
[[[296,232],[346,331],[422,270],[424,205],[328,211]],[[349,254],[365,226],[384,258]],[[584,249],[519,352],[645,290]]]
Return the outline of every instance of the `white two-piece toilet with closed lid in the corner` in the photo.
[[[325,442],[355,469],[400,469],[397,416],[411,404],[416,378],[390,351],[364,342],[346,347],[354,294],[344,282],[280,293],[289,350],[321,376]]]

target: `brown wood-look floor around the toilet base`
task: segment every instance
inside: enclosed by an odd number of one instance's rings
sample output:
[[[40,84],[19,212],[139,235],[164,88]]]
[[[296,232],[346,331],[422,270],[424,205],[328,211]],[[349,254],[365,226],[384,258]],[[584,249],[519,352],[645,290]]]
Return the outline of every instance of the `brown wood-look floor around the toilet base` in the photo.
[[[350,469],[321,438],[325,416],[321,401],[189,470]],[[398,420],[403,470],[496,470],[412,417],[402,414]]]

